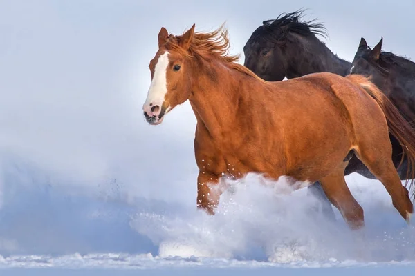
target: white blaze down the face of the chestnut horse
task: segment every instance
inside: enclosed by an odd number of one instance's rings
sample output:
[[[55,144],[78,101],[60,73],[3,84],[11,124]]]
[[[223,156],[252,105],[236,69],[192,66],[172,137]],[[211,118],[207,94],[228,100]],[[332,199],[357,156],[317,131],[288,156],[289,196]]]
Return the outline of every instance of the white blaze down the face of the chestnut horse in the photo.
[[[151,80],[147,99],[144,103],[145,106],[152,103],[152,105],[159,105],[161,108],[165,95],[167,94],[167,66],[169,66],[169,52],[165,51],[163,55],[158,57],[158,61],[154,67],[154,76]]]

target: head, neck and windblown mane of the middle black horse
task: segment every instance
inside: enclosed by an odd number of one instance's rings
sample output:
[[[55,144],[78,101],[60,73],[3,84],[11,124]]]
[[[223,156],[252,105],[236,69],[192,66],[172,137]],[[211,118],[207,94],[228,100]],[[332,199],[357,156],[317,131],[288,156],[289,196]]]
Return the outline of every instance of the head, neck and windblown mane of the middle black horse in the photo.
[[[326,28],[315,20],[300,21],[303,11],[264,21],[246,45],[244,65],[266,81],[282,81],[315,72],[345,76],[350,64],[317,38],[327,37]]]

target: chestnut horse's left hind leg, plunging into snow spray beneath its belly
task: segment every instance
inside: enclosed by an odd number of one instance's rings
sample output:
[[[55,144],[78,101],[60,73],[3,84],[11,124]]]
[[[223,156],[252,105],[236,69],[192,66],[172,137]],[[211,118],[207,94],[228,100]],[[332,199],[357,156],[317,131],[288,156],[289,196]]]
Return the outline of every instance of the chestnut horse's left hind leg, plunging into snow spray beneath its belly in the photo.
[[[365,226],[365,218],[362,207],[351,195],[344,179],[344,168],[346,166],[347,161],[342,162],[329,175],[320,179],[320,184],[322,184],[324,193],[331,201],[331,204],[338,208],[349,227],[359,229]]]

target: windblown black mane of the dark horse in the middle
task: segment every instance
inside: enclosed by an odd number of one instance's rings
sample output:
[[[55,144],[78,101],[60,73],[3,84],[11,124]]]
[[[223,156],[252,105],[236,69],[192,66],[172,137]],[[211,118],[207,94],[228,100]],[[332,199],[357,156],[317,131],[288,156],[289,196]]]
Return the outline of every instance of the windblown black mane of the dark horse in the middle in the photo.
[[[294,32],[303,36],[314,34],[325,38],[329,37],[326,28],[322,23],[317,22],[317,19],[300,21],[303,17],[303,12],[304,10],[297,10],[295,12],[282,13],[279,14],[277,19],[266,20],[262,24],[270,32],[283,30],[278,40],[285,37],[288,32]]]

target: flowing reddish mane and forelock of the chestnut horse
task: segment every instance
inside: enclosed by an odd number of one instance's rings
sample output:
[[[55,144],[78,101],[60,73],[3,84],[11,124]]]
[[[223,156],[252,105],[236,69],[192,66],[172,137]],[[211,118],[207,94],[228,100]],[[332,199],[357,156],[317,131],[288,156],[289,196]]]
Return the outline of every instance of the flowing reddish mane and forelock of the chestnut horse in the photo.
[[[211,61],[212,59],[219,60],[234,70],[264,82],[264,79],[261,79],[254,72],[237,63],[240,55],[228,55],[230,43],[228,29],[224,27],[224,24],[212,32],[195,32],[190,48],[187,51],[178,45],[181,37],[182,35],[175,36],[170,34],[165,47],[169,50],[181,52],[181,54],[191,58],[201,58],[206,61]]]

